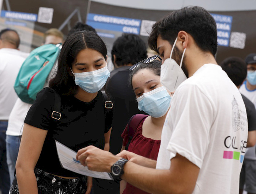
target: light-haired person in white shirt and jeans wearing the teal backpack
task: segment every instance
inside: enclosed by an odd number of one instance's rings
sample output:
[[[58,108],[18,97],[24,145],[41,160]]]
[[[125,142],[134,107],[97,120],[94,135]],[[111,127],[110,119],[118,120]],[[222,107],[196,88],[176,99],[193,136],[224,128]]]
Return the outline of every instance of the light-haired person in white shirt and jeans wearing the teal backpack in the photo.
[[[44,36],[44,44],[58,44],[63,42],[63,33],[56,28],[50,28],[45,32]],[[19,71],[18,71],[19,72]],[[54,72],[54,68],[48,75],[46,79],[44,88],[48,86],[50,79],[52,78],[52,74]],[[16,77],[15,77],[16,78]],[[15,79],[14,79],[15,80]],[[12,84],[13,88],[14,83]],[[16,93],[15,93],[16,95]],[[16,96],[17,98],[17,96]],[[23,102],[18,98],[15,102],[15,105],[10,113],[8,127],[6,131],[6,149],[7,149],[7,164],[10,172],[10,181],[14,179],[14,171],[16,160],[19,151],[20,138],[22,135],[23,121],[27,115],[27,112],[30,109],[32,104],[28,104]],[[10,187],[9,187],[10,189]],[[9,191],[8,189],[8,191]]]

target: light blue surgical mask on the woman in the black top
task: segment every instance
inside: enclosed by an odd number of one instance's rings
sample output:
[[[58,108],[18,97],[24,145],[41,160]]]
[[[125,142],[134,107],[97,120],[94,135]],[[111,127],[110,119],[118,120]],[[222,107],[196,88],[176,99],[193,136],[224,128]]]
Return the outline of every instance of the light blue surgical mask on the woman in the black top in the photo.
[[[75,75],[76,85],[88,93],[95,93],[101,90],[110,76],[107,65],[95,71],[73,74]]]

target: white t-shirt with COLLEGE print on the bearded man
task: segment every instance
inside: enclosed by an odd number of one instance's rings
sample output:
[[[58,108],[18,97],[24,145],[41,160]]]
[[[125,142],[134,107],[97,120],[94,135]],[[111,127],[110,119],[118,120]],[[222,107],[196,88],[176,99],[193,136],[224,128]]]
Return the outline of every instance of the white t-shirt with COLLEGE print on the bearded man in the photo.
[[[245,105],[220,66],[182,82],[163,126],[157,169],[180,154],[200,168],[193,194],[235,194],[248,134]]]

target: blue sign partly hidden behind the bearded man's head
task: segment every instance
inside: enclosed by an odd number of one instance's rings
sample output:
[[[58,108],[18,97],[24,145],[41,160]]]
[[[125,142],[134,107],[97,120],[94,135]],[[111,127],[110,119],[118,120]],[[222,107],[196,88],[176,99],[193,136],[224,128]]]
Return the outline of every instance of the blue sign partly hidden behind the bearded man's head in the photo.
[[[211,13],[217,24],[218,45],[229,46],[230,32],[232,27],[232,16]]]

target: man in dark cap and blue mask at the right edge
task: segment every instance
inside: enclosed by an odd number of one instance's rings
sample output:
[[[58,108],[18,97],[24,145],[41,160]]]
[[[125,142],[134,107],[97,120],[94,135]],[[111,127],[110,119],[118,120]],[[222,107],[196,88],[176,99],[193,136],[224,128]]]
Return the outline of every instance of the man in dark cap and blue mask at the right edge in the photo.
[[[240,92],[249,100],[252,101],[256,107],[256,54],[251,53],[245,58],[247,65],[247,77],[244,84],[240,87]],[[255,118],[256,119],[256,118]],[[240,193],[243,190],[245,183],[245,190],[248,194],[256,194],[256,145],[246,149],[244,156],[244,171],[241,173],[240,179]]]

